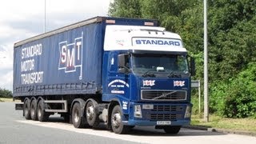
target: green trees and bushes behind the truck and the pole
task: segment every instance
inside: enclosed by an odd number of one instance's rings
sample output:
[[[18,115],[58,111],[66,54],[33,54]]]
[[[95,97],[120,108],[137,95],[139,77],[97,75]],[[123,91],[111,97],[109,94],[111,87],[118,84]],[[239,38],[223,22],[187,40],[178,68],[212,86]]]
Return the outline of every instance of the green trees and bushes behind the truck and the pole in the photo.
[[[180,34],[196,58],[194,78],[202,82],[202,1],[114,0],[109,14],[157,19],[166,30]],[[210,0],[207,23],[211,112],[233,118],[256,115],[256,0]]]

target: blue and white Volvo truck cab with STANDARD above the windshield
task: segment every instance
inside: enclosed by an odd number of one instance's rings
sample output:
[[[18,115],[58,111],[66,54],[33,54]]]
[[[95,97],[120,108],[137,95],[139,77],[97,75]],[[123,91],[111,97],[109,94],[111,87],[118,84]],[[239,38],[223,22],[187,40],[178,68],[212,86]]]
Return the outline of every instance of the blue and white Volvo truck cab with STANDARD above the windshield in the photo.
[[[176,133],[190,123],[190,65],[178,34],[106,26],[103,59],[102,101],[119,103],[124,125]]]

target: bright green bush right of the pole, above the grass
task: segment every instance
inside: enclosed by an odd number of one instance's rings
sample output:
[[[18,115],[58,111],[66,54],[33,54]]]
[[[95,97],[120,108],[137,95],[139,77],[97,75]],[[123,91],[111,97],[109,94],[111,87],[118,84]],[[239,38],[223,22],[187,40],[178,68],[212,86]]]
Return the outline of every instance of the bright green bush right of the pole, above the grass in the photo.
[[[210,110],[228,118],[254,117],[256,113],[256,62],[228,82],[211,89]]]

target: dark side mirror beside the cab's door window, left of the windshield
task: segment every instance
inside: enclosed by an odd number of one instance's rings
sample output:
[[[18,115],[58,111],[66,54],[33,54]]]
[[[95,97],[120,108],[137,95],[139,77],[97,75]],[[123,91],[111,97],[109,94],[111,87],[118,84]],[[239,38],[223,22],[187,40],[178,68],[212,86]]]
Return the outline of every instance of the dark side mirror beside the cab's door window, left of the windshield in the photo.
[[[119,73],[129,73],[130,69],[126,66],[129,62],[129,54],[119,54],[118,55],[118,72]]]

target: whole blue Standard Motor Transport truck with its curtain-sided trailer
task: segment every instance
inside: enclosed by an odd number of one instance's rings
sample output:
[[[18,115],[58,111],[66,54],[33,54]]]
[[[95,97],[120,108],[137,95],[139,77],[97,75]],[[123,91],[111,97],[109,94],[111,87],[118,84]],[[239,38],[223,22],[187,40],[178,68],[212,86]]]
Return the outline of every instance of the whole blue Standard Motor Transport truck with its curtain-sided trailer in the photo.
[[[100,123],[115,134],[190,124],[190,57],[157,20],[95,17],[14,43],[15,110],[74,127]]]

